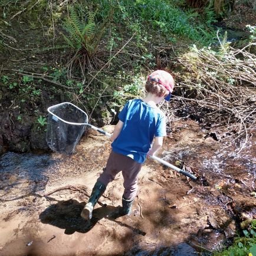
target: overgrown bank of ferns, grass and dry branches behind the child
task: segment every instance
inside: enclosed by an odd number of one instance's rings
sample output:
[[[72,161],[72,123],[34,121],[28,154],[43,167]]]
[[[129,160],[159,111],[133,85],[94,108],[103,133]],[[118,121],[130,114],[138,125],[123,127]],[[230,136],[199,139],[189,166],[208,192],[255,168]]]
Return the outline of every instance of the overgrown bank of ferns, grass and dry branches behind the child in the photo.
[[[224,126],[222,138],[232,142],[243,138],[239,152],[255,125],[256,32],[248,24],[250,37],[235,44],[227,32],[218,35],[215,5],[199,12],[182,1],[2,1],[0,47],[9,67],[2,64],[0,81],[4,91],[17,94],[15,118],[22,120],[30,100],[43,127],[38,101],[48,90],[52,103],[72,101],[93,122],[114,123],[127,99],[143,95],[147,74],[165,69],[176,80],[165,107],[169,121],[172,113],[179,116],[178,104],[184,110],[180,118],[196,119],[207,129]],[[19,34],[42,33],[37,36],[43,43],[29,51],[30,67],[16,61],[29,50],[28,38],[15,39],[17,26]]]

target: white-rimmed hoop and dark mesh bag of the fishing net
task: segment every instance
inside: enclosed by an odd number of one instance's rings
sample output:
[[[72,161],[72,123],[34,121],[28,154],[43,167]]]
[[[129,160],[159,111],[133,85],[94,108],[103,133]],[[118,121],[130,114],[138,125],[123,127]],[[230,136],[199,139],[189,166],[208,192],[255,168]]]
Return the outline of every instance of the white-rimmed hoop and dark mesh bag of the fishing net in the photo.
[[[87,124],[87,114],[74,104],[64,102],[48,108],[47,144],[55,152],[70,155]]]

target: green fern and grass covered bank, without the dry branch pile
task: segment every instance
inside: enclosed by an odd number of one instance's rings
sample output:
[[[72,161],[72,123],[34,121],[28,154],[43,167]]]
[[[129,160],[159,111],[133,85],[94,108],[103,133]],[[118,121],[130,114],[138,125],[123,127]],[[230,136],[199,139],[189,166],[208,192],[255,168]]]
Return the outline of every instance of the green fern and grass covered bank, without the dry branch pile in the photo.
[[[192,44],[197,48],[216,44],[213,22],[219,15],[216,8],[221,9],[218,4],[217,0],[201,6],[187,5],[182,0],[75,0],[72,4],[47,0],[1,1],[0,22],[5,27],[14,26],[14,18],[20,24],[28,19],[24,23],[26,29],[38,29],[44,24],[44,37],[51,44],[35,49],[35,55],[44,56],[52,51],[61,56],[37,65],[35,71],[43,73],[42,79],[31,71],[18,78],[15,74],[4,74],[1,81],[10,91],[18,93],[21,104],[32,101],[36,105],[47,86],[51,94],[60,94],[62,100],[74,101],[88,111],[100,109],[100,104],[107,104],[111,111],[121,107],[124,99],[143,94],[144,74],[149,70],[170,69],[172,64],[168,59],[175,54],[186,54]],[[249,25],[248,29],[253,41],[255,27]],[[8,37],[2,34],[0,37],[1,42],[7,42]],[[229,51],[227,33],[221,41],[221,47],[212,47],[211,51],[225,58]],[[44,78],[47,82],[42,83]],[[222,78],[235,84],[232,77]],[[52,84],[47,84],[49,81]],[[54,95],[49,99],[54,99]]]

